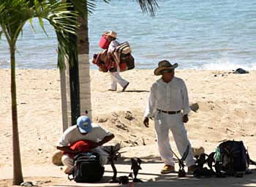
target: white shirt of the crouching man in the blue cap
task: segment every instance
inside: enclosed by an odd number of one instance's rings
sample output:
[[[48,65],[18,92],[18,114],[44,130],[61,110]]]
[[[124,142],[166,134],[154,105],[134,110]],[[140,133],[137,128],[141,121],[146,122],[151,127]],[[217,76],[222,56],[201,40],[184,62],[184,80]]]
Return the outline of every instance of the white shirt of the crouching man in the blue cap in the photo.
[[[64,131],[57,146],[64,147],[72,145],[73,142],[78,142],[80,140],[91,140],[93,142],[99,142],[104,137],[112,135],[110,131],[103,129],[101,126],[91,123],[92,130],[88,134],[80,134],[78,126],[70,126]]]

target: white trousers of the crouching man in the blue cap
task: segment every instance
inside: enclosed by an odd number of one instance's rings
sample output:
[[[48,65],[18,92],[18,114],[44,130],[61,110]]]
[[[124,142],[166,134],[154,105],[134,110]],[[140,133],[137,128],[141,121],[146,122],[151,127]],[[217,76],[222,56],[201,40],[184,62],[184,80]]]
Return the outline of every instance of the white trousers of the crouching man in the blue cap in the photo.
[[[106,153],[105,150],[102,150],[102,148],[97,147],[92,149],[91,152],[99,153],[99,162],[100,164],[102,164],[102,166],[104,164],[107,164],[108,153]],[[64,164],[64,166],[68,167],[69,169],[71,169],[74,166],[74,159],[70,158],[68,154],[64,154],[61,157],[61,161]]]

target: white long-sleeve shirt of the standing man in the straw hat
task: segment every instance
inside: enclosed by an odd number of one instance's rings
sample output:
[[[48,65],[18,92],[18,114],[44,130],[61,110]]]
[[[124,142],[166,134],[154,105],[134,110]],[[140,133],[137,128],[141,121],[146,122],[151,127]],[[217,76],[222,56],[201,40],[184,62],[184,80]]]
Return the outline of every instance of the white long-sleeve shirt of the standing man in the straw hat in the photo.
[[[157,82],[153,83],[144,117],[154,117],[154,112],[157,109],[165,111],[182,110],[183,115],[189,113],[189,96],[184,80],[173,77],[173,80],[165,83],[160,78]]]

